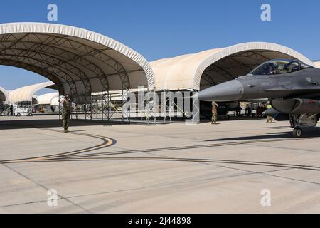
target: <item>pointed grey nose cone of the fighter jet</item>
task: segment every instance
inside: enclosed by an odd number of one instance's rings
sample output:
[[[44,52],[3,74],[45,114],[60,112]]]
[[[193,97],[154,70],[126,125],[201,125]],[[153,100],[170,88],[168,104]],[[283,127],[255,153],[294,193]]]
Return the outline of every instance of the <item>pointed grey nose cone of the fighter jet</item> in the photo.
[[[199,92],[199,100],[205,101],[233,101],[240,100],[243,96],[243,86],[238,80],[212,86]]]

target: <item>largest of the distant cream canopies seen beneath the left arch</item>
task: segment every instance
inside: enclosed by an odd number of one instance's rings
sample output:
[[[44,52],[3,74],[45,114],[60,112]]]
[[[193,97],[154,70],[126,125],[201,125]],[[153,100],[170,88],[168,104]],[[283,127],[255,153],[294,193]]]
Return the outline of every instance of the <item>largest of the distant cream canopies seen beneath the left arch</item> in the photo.
[[[24,86],[13,90],[9,93],[9,100],[11,103],[19,103],[19,102],[31,102],[38,103],[38,98],[35,97],[35,93],[43,88],[48,88],[53,86],[54,83],[52,81],[48,81],[46,83],[38,83],[31,86]]]

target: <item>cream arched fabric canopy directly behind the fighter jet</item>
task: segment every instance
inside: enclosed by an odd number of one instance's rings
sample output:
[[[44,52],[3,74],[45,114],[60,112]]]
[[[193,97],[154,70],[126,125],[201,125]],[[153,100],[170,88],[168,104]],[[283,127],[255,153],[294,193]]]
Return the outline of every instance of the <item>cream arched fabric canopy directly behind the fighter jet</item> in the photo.
[[[240,43],[195,54],[151,62],[156,90],[201,90],[249,73],[272,58],[297,58],[313,66],[301,53],[275,43]]]

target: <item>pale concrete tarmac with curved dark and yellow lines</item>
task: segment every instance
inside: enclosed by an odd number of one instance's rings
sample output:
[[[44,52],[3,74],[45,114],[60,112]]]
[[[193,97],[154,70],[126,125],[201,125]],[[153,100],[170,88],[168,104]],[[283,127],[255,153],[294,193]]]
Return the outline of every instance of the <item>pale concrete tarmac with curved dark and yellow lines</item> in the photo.
[[[0,213],[320,212],[318,128],[301,139],[258,119],[61,130],[54,115],[0,117]]]

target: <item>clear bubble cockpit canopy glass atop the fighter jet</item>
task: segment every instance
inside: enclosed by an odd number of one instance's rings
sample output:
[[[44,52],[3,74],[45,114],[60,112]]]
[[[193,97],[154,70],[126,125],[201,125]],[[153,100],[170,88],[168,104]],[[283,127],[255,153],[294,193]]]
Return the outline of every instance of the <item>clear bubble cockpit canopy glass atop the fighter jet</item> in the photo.
[[[301,71],[305,68],[310,68],[311,66],[302,63],[298,60],[272,60],[262,63],[260,66],[257,66],[249,74],[251,75],[274,75],[282,73],[292,73],[294,71]]]

